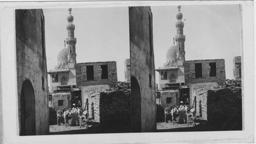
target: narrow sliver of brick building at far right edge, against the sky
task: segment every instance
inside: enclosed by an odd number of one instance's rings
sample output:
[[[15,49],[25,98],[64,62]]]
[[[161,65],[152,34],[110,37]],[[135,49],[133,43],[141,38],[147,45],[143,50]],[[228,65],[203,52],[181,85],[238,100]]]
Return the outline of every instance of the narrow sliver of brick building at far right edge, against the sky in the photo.
[[[233,59],[233,76],[235,80],[242,79],[241,56],[234,56]]]

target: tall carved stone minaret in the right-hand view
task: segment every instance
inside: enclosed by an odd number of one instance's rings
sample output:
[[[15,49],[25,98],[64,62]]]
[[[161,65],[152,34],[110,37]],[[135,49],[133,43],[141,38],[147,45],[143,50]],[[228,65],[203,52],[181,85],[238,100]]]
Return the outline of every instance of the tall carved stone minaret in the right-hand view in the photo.
[[[175,41],[177,44],[177,64],[178,66],[183,66],[183,62],[185,61],[185,50],[184,50],[184,42],[186,37],[183,35],[183,27],[184,22],[182,22],[182,13],[180,13],[181,6],[178,6],[178,13],[176,15],[177,22],[177,35],[175,36]]]

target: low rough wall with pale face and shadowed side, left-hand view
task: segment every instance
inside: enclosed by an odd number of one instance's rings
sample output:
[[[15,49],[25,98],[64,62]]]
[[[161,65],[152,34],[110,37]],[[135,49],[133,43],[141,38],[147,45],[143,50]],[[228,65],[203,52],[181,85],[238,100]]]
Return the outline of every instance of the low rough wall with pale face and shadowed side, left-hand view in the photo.
[[[89,118],[100,125],[131,125],[131,90],[109,90],[108,85],[82,87],[82,106],[88,99]]]

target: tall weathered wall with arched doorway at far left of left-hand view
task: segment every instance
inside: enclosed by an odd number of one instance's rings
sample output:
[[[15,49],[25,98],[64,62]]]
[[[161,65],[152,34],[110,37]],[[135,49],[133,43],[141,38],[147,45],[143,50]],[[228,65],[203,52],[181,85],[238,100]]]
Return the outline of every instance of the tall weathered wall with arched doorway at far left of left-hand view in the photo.
[[[42,9],[15,10],[19,135],[49,133],[44,21]]]

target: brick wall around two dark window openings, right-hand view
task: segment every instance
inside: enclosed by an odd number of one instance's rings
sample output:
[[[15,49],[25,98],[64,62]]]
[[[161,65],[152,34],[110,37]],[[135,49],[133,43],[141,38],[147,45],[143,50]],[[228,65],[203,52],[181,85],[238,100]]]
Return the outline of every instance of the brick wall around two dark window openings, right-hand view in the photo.
[[[202,64],[202,77],[195,76],[195,64]],[[216,72],[217,76],[210,77],[210,68],[209,63],[216,63]],[[193,83],[204,83],[204,82],[217,82],[222,84],[226,79],[225,74],[225,60],[216,59],[216,60],[195,60],[195,61],[185,61],[184,63],[184,73],[185,73],[185,84]]]

